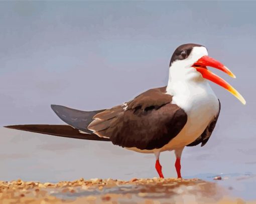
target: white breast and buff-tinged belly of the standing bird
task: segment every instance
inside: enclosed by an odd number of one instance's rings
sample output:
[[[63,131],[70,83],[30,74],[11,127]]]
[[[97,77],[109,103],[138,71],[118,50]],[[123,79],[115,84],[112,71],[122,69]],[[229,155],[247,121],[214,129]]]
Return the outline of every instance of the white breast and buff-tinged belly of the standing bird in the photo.
[[[195,141],[219,111],[218,99],[204,79],[201,79],[200,82],[174,83],[171,88],[167,89],[167,94],[173,95],[172,103],[182,108],[188,118],[181,132],[161,151],[184,147]]]

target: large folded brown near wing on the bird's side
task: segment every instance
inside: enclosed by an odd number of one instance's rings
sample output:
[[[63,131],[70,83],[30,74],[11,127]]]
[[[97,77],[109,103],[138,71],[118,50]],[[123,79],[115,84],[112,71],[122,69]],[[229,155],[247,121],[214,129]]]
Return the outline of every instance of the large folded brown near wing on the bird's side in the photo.
[[[161,148],[187,122],[187,114],[171,101],[166,87],[150,89],[132,101],[96,114],[88,129],[122,147]]]

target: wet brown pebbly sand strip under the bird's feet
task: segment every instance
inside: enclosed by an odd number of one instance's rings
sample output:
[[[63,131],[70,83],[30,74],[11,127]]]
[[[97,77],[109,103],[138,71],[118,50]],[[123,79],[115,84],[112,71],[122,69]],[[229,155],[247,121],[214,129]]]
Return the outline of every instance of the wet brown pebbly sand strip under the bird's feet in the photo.
[[[0,203],[256,203],[231,198],[214,182],[152,178],[94,178],[58,183],[0,181]]]

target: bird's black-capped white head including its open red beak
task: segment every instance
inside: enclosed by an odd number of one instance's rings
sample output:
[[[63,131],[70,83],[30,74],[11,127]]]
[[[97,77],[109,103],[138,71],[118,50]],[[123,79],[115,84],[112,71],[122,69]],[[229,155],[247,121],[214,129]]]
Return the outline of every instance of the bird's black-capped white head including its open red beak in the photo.
[[[186,80],[192,82],[207,79],[228,90],[241,103],[246,103],[244,98],[231,85],[208,70],[207,66],[219,69],[235,78],[235,75],[227,67],[208,56],[207,49],[204,46],[197,44],[184,44],[174,51],[170,62],[170,78],[175,81]]]

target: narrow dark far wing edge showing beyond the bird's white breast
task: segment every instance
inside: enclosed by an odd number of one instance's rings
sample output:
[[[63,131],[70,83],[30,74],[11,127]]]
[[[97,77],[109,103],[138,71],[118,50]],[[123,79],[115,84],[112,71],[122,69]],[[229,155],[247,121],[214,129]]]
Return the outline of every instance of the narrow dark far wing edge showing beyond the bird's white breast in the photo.
[[[219,101],[219,112],[220,112],[220,101]],[[202,143],[201,144],[201,147],[202,147],[206,144],[206,142],[210,139],[211,133],[215,128],[215,125],[219,117],[219,112],[218,112],[218,115],[214,118],[214,120],[211,121],[211,123],[205,128],[204,132],[194,142],[188,144],[187,146],[196,146]]]

